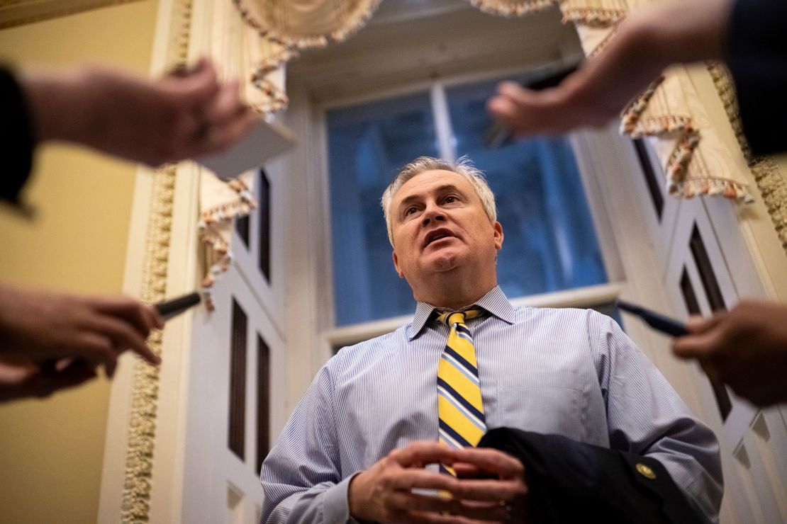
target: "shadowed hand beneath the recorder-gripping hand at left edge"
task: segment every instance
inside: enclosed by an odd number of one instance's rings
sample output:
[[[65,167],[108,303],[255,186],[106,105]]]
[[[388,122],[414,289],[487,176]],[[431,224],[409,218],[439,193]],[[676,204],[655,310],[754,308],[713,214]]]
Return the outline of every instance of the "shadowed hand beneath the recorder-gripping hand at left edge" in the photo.
[[[0,402],[48,397],[57,390],[79,386],[95,376],[86,361],[61,361],[55,365],[54,372],[45,374],[28,361],[0,360]]]

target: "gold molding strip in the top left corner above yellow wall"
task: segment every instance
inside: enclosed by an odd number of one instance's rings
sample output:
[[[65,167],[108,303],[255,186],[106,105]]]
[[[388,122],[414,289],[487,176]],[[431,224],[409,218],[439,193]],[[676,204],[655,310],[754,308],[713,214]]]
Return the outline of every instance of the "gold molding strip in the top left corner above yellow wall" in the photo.
[[[140,0],[0,0],[0,29]]]

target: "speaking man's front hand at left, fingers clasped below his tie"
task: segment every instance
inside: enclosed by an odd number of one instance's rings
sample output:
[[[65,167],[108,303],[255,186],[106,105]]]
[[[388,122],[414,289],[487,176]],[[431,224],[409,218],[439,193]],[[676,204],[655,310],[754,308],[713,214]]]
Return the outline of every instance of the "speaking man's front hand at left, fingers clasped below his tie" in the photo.
[[[448,496],[412,493],[434,489],[454,493],[459,481],[449,475],[427,471],[427,464],[451,464],[453,451],[438,442],[414,442],[394,449],[349,484],[348,504],[353,518],[370,522],[501,522],[504,508],[464,504]]]

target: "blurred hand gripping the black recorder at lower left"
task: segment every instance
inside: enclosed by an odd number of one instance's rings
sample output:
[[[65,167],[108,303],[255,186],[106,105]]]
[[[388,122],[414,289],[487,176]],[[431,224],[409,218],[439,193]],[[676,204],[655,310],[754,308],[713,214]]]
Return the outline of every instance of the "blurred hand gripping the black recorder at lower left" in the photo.
[[[133,350],[151,364],[161,358],[146,345],[161,317],[127,297],[85,297],[28,291],[0,285],[0,355],[22,357],[31,365],[65,357],[92,368],[104,365],[113,376],[117,357]]]

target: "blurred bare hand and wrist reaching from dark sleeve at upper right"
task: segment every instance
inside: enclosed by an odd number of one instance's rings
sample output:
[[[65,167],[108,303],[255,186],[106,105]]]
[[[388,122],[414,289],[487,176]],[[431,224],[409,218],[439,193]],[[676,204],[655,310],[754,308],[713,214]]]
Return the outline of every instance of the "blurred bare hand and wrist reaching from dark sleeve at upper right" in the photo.
[[[559,86],[534,91],[503,82],[486,107],[519,136],[603,126],[670,64],[722,58],[730,9],[730,0],[691,0],[633,13]]]

